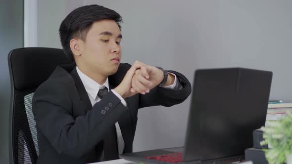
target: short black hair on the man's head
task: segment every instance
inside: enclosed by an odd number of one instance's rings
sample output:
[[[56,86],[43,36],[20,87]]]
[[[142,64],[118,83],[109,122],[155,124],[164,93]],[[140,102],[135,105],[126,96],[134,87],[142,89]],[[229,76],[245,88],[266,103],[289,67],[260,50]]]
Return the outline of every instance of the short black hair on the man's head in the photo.
[[[96,21],[109,19],[114,20],[119,28],[119,23],[123,22],[120,14],[109,8],[92,4],[76,8],[70,12],[62,21],[59,28],[61,44],[65,54],[75,63],[73,53],[70,48],[70,40],[73,38],[86,41],[86,35]]]

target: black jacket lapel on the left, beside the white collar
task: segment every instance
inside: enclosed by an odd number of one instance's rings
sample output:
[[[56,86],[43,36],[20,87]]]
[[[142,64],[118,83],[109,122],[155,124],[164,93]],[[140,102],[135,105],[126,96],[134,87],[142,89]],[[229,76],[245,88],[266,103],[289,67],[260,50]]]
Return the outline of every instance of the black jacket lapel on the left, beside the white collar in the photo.
[[[86,89],[83,85],[83,82],[81,81],[81,79],[77,73],[76,67],[71,72],[71,76],[74,79],[76,89],[78,91],[78,94],[80,96],[81,101],[83,102],[83,104],[86,107],[86,111],[92,110],[93,107],[91,105],[91,102],[90,102],[90,99],[89,99],[88,94],[86,92]]]

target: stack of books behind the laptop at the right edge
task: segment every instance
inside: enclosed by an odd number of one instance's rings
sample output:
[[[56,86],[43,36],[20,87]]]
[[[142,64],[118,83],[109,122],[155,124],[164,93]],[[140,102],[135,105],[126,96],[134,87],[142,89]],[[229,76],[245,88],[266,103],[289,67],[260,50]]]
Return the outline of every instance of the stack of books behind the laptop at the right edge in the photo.
[[[292,103],[269,102],[267,111],[267,121],[277,121],[287,115],[287,112],[292,112]]]

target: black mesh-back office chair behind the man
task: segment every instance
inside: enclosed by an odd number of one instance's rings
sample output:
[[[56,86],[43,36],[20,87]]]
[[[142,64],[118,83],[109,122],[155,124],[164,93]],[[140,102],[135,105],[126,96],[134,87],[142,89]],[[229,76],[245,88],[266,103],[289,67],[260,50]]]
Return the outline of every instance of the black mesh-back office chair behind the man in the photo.
[[[11,83],[9,111],[9,163],[36,164],[39,156],[32,98],[56,66],[72,64],[62,49],[29,47],[8,54]]]

